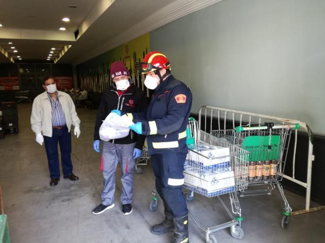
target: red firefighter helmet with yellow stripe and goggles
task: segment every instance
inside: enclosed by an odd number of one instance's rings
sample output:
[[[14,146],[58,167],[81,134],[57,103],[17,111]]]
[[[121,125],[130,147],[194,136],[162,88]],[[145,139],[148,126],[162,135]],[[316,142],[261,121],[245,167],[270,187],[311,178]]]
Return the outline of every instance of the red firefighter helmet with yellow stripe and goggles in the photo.
[[[171,63],[167,57],[160,52],[149,52],[139,63],[139,74],[155,71],[158,69],[171,70]]]

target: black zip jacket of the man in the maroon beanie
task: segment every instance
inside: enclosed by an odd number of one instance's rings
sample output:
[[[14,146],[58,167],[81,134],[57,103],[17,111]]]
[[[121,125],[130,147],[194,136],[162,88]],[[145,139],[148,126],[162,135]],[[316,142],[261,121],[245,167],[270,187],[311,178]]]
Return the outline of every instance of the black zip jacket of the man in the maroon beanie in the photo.
[[[100,127],[111,110],[117,109],[124,112],[141,112],[146,107],[147,97],[145,93],[134,84],[130,84],[129,88],[121,96],[118,95],[114,84],[108,87],[104,91],[101,104],[97,111],[93,139],[100,140]],[[116,144],[130,144],[136,142],[135,147],[142,150],[144,140],[145,136],[138,135],[130,130],[127,137],[110,140],[110,142]]]

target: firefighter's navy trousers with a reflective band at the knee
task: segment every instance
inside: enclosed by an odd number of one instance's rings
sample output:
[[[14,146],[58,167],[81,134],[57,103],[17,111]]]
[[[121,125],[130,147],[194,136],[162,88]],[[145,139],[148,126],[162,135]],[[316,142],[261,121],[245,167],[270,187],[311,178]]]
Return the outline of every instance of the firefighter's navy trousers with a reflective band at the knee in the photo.
[[[186,153],[152,154],[151,163],[156,177],[156,189],[163,201],[172,210],[174,218],[187,214],[182,188]]]

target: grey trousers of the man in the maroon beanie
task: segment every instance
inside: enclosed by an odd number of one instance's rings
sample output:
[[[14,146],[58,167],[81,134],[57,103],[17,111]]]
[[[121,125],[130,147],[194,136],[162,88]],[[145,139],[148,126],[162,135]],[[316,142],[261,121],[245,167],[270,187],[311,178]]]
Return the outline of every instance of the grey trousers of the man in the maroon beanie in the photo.
[[[135,159],[133,149],[136,143],[114,144],[103,142],[103,177],[102,204],[109,206],[114,203],[115,172],[117,164],[121,167],[121,203],[131,204],[134,184]]]

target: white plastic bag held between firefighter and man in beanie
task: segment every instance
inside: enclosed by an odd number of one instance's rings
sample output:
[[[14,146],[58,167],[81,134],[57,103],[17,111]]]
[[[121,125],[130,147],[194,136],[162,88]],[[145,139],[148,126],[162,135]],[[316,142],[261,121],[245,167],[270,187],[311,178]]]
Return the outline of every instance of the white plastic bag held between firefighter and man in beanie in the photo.
[[[134,123],[126,116],[109,113],[100,128],[100,138],[103,141],[124,138],[129,134],[129,126]]]

